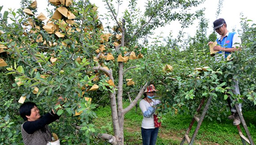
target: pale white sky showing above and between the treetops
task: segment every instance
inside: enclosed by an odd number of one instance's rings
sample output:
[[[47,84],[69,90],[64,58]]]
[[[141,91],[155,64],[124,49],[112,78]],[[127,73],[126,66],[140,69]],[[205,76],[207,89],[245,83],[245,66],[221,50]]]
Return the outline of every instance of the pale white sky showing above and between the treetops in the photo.
[[[0,6],[3,5],[3,9],[1,13],[4,13],[5,10],[8,10],[8,8],[18,9],[20,7],[19,2],[21,0],[0,0]],[[143,10],[143,7],[145,5],[146,0],[139,0],[138,1],[138,8]],[[102,2],[102,0],[93,0],[92,3],[95,3],[97,5],[99,14],[104,15],[106,13],[105,9],[105,3]],[[195,10],[199,10],[202,8],[206,8],[205,12],[205,18],[209,21],[209,30],[207,31],[208,34],[212,33],[213,29],[213,21],[216,20],[216,10],[218,8],[218,2],[219,0],[206,0],[204,4],[198,5],[198,7],[195,8]],[[47,0],[37,0],[38,3],[38,14],[43,12],[45,15],[46,7],[47,7]],[[247,18],[251,19],[253,23],[256,23],[256,8],[255,8],[256,1],[255,0],[224,0],[223,1],[223,8],[221,9],[221,14],[218,16],[218,18],[224,18],[227,23],[227,29],[228,30],[237,30],[240,29],[240,18],[241,14]],[[125,0],[123,0],[123,5],[120,6],[120,10],[125,10],[125,5],[128,5]],[[122,11],[120,11],[122,13]],[[122,16],[122,14],[119,14],[119,16]],[[104,24],[104,22],[103,22]],[[198,22],[195,22],[192,26],[189,28],[186,28],[184,32],[187,36],[193,36],[193,34],[196,33],[196,27],[198,25]],[[179,30],[181,30],[181,25],[179,25],[178,22],[171,22],[170,25],[165,26],[164,28],[158,28],[156,32],[156,36],[159,35],[161,32],[161,36],[167,37],[172,32],[172,35],[175,37],[178,35]]]

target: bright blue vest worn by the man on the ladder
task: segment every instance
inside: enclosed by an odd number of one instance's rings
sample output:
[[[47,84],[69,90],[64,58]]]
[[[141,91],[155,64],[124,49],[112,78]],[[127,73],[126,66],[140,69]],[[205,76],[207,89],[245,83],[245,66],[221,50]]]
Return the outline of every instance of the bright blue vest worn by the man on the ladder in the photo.
[[[221,45],[221,47],[224,48],[232,48],[233,45],[233,36],[234,36],[235,32],[229,32],[228,36],[223,37],[222,40],[220,40],[220,38],[218,38],[216,40],[216,42],[218,43],[218,45]],[[222,51],[218,51],[218,53],[222,53]],[[229,52],[225,51],[225,58],[227,58],[227,56],[229,56]]]

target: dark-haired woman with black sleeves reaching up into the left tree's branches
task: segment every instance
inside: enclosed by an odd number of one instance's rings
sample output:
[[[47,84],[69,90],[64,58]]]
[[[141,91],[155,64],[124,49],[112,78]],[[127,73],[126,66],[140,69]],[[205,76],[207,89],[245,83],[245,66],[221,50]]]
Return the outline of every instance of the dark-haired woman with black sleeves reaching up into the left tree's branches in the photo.
[[[47,125],[60,118],[53,110],[41,117],[36,104],[29,101],[20,106],[19,115],[25,121],[21,125],[25,145],[46,145],[48,141],[52,141],[52,134]]]

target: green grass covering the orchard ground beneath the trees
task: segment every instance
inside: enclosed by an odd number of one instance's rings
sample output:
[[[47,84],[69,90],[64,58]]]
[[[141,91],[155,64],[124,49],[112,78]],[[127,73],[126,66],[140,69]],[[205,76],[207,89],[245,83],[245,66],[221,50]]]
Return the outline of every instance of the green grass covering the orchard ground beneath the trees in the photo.
[[[96,127],[105,127],[105,131],[112,134],[112,121],[111,121],[111,109],[109,106],[104,108],[98,108],[96,111],[99,118],[97,118],[94,123]],[[243,112],[244,120],[246,121],[249,132],[256,142],[256,111]],[[168,144],[176,145],[180,144],[182,138],[185,135],[187,128],[189,127],[192,117],[189,115],[166,115],[166,120],[162,123],[159,129],[159,134],[157,137],[158,144]],[[124,123],[124,136],[125,144],[142,144],[142,138],[140,134],[140,126],[142,122],[142,112],[139,107],[133,108],[130,112],[125,115]],[[197,123],[195,122],[190,131],[190,138],[193,135],[193,131],[196,128]],[[240,124],[243,131],[243,135],[247,137],[244,132],[243,125]],[[108,144],[103,141],[97,141],[98,144]],[[187,144],[187,143],[186,143]],[[222,118],[221,122],[217,120],[204,120],[201,127],[196,135],[194,144],[242,144],[240,136],[238,135],[238,130],[236,126],[233,126],[232,120],[227,120]]]

